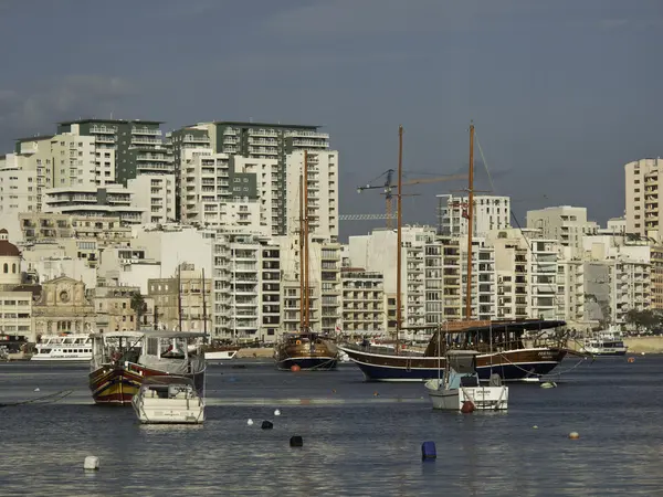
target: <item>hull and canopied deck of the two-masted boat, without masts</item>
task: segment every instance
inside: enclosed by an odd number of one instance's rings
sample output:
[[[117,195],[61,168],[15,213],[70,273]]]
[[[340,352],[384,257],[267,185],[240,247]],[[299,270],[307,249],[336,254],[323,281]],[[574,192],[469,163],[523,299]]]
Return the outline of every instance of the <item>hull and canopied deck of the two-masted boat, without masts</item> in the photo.
[[[442,341],[438,343],[438,331],[425,352],[417,353],[345,345],[338,348],[355,362],[367,381],[425,381],[438,378],[439,370],[445,366],[445,353],[450,349],[476,349],[476,371],[481,380],[499,374],[504,381],[537,381],[550,373],[566,357],[566,339],[534,339],[526,347],[525,331],[545,330],[566,325],[564,321],[474,321],[475,326],[462,331],[442,331]],[[483,326],[476,326],[483,324]],[[492,337],[491,337],[492,336]],[[554,343],[550,343],[552,341]],[[543,345],[547,342],[547,345]]]

